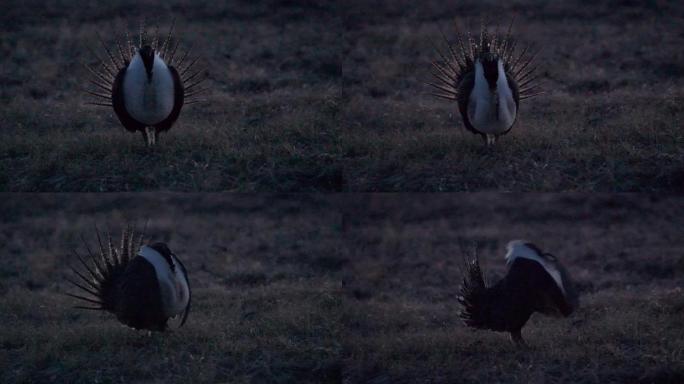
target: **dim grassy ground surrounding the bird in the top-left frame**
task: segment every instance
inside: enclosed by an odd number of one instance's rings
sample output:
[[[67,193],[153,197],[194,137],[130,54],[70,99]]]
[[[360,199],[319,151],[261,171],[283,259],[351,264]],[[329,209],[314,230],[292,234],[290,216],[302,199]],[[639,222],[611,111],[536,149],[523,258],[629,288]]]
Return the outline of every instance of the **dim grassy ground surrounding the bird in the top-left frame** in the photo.
[[[143,17],[193,45],[208,102],[148,151],[113,111],[84,106],[96,32]],[[326,1],[3,1],[0,190],[341,189],[340,18]]]

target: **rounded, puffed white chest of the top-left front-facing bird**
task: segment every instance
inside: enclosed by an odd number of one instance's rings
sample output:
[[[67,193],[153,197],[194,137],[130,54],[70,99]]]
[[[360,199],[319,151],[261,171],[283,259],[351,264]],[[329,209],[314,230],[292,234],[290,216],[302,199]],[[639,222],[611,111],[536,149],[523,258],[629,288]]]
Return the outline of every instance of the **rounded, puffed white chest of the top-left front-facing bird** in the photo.
[[[173,110],[174,84],[171,71],[155,54],[152,78],[147,78],[140,54],[136,54],[126,69],[123,81],[126,111],[135,120],[154,125],[166,119]]]

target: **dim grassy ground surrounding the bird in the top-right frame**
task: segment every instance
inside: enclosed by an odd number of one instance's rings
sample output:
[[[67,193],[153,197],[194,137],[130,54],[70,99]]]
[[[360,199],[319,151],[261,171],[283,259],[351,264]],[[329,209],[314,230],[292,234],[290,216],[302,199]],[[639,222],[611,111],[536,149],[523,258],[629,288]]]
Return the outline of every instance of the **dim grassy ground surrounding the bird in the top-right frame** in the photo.
[[[684,190],[684,3],[346,2],[342,54],[345,189]],[[520,104],[494,148],[454,102],[430,95],[431,61],[453,41],[504,29],[537,58],[546,93]]]

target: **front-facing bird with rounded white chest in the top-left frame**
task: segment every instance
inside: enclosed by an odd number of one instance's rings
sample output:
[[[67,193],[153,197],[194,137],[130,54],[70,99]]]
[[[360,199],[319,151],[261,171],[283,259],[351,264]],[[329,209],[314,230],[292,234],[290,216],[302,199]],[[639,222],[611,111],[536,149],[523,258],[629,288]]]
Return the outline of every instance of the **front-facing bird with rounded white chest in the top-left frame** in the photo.
[[[175,20],[162,42],[159,27],[150,39],[141,22],[137,45],[126,32],[123,42],[115,37],[113,49],[98,33],[106,56],[91,50],[97,64],[85,64],[90,74],[86,104],[113,108],[123,127],[141,132],[148,147],[171,129],[184,105],[205,101],[200,95],[207,91],[202,86],[206,77],[195,68],[199,57],[189,59],[191,49],[176,56],[180,42],[172,38],[174,27]]]

